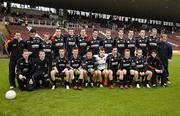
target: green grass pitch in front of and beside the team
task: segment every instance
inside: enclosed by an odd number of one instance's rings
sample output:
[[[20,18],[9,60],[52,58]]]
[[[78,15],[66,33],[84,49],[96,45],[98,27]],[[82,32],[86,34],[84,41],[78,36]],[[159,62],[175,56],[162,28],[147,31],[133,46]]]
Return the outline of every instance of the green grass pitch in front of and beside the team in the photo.
[[[20,92],[6,100],[8,60],[0,60],[0,116],[180,116],[180,56],[170,64],[168,88],[57,88]]]

